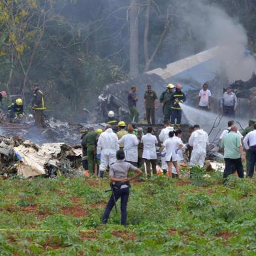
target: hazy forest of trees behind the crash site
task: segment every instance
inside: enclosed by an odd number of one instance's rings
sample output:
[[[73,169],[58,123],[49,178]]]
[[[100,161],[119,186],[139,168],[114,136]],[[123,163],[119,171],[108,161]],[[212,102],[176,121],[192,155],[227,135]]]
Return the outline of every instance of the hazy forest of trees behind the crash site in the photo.
[[[194,3],[1,0],[0,89],[24,95],[29,110],[32,85],[37,82],[54,116],[78,120],[84,107],[95,107],[104,85],[208,48],[197,25],[187,25]],[[200,3],[216,6],[242,24],[246,47],[255,52],[255,1]],[[205,15],[199,12],[199,21]]]

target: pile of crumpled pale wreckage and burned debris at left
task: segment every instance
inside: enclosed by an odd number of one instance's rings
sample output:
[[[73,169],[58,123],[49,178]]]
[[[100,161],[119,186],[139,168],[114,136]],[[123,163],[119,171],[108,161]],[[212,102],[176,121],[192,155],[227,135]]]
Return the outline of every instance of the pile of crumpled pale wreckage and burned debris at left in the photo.
[[[20,175],[24,178],[58,174],[81,176],[82,149],[65,143],[44,143],[39,146],[18,136],[0,137],[0,174]]]

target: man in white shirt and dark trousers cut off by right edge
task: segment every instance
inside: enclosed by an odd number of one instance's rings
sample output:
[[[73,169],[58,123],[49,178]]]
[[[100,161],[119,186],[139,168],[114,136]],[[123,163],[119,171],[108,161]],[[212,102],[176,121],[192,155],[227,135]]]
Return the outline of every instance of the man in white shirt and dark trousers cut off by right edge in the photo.
[[[249,142],[249,143],[248,143]],[[256,163],[256,124],[254,130],[250,131],[244,138],[244,148],[249,150],[249,172],[248,177],[253,177],[254,167]]]

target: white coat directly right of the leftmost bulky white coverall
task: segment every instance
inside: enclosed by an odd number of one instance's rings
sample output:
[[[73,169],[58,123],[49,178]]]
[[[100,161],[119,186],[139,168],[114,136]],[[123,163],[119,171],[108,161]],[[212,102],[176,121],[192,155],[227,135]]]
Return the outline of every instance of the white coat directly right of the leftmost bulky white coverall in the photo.
[[[119,144],[123,144],[123,151],[125,152],[125,161],[130,161],[137,163],[138,162],[138,138],[135,135],[131,135],[128,133],[127,135],[123,135],[120,140],[118,140]]]

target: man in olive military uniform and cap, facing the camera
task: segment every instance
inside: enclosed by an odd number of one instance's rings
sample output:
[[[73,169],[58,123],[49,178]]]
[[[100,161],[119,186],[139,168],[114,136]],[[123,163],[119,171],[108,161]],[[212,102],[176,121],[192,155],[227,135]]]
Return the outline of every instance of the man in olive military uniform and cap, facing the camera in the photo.
[[[151,84],[147,85],[147,90],[144,94],[144,108],[146,108],[146,117],[148,124],[155,124],[155,109],[157,109],[157,94],[152,91]]]

